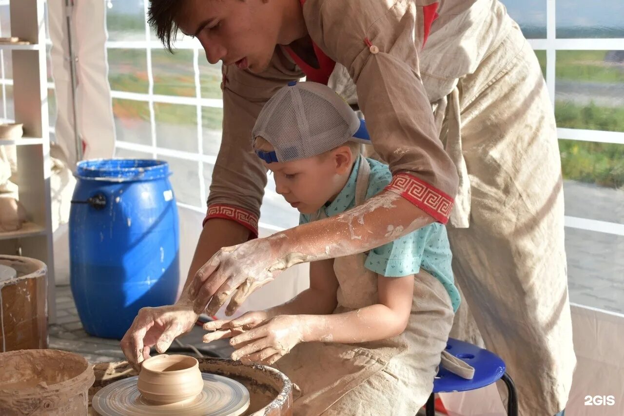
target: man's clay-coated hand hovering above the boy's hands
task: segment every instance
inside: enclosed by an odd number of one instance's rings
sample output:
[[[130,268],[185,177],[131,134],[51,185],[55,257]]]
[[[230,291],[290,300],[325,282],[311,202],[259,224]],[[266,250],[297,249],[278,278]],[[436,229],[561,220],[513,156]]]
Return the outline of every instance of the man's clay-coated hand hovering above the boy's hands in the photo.
[[[232,315],[252,292],[282,270],[313,260],[299,253],[282,254],[283,240],[283,235],[271,235],[219,250],[193,277],[190,299],[195,300],[195,312],[215,315],[233,295],[225,311]]]

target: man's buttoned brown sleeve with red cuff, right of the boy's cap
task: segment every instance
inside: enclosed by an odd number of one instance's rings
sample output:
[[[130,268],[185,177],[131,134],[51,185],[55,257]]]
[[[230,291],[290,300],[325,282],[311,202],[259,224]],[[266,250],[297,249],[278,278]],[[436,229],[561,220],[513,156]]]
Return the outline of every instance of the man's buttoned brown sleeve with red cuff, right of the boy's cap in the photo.
[[[371,143],[394,177],[389,191],[446,224],[459,179],[420,76],[424,3],[306,0],[303,14],[311,39],[356,85]]]

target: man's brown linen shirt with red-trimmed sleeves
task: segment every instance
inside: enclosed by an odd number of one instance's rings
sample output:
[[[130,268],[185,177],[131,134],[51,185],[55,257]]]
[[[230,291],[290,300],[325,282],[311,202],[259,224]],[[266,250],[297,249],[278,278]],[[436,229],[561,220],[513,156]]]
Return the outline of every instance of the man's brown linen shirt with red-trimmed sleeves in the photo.
[[[406,197],[445,223],[457,193],[458,177],[456,167],[442,148],[430,102],[448,91],[442,88],[425,91],[420,73],[419,54],[425,43],[424,7],[431,3],[306,0],[303,15],[311,39],[339,64],[334,71],[339,75],[330,79],[329,86],[351,89],[353,81],[356,82],[353,89],[358,97],[356,102],[349,98],[349,103],[359,104],[364,111],[373,146],[395,176],[389,191]],[[453,0],[441,4],[442,15],[438,21],[445,22],[444,37],[458,36],[453,24],[461,20],[461,14],[472,3],[474,0]],[[449,15],[444,16],[445,13]],[[427,41],[427,45],[439,44],[437,50],[429,51],[431,58],[444,56],[445,48],[455,47],[436,39],[439,37],[436,31],[441,31],[438,26],[431,26]],[[462,38],[462,48],[478,50],[476,44],[466,43],[479,40],[478,37],[472,40],[473,37]],[[371,52],[365,38],[378,48],[378,53]],[[470,54],[464,57],[453,54],[453,59],[440,65],[439,70],[446,74],[446,69],[454,68],[456,62],[474,61]],[[277,46],[265,72],[251,74],[248,70],[224,66],[223,77],[223,141],[208,205],[240,207],[251,212],[257,222],[266,172],[260,159],[251,152],[251,129],[263,104],[288,81],[303,77],[303,72],[284,47]],[[452,84],[452,80],[445,79],[443,84]]]

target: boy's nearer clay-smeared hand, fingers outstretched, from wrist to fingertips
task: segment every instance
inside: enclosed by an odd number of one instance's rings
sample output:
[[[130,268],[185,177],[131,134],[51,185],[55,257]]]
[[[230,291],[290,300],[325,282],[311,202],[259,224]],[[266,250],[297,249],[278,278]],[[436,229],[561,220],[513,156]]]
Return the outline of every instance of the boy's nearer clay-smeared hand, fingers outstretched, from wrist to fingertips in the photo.
[[[303,342],[301,315],[277,315],[230,340],[233,360],[271,365]]]

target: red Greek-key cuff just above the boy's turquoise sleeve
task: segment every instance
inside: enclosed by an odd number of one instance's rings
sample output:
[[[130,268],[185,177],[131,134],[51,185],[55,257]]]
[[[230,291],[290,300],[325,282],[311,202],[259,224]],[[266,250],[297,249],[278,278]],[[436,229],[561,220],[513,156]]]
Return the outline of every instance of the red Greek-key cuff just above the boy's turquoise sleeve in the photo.
[[[407,201],[434,217],[437,222],[442,224],[449,222],[453,199],[416,176],[400,172],[392,177],[392,182],[385,189],[404,197]]]

